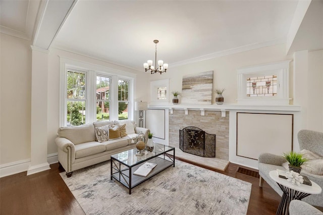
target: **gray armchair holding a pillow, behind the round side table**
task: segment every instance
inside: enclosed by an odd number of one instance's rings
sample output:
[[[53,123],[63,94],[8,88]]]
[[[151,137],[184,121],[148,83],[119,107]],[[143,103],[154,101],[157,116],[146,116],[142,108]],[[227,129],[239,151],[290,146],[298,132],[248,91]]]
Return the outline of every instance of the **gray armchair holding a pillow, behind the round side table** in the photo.
[[[310,130],[301,130],[297,134],[300,150],[307,149],[315,152],[316,154],[323,156],[323,133]],[[276,169],[285,170],[282,166],[286,162],[286,159],[282,155],[275,155],[270,153],[262,153],[258,158],[259,169],[259,186],[262,187],[263,180],[265,180],[280,196],[283,195],[283,191],[279,188],[277,183],[271,179],[269,172]],[[301,172],[302,175],[306,175],[309,180],[318,184],[323,188],[323,176],[313,175]],[[323,207],[323,192],[317,195],[309,195],[303,199],[305,202]]]

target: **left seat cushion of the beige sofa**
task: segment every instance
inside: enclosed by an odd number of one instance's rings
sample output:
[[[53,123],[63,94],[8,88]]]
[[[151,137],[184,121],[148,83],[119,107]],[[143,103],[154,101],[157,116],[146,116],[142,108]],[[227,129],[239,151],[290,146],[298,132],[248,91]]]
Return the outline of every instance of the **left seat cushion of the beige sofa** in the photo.
[[[96,141],[75,145],[75,158],[86,157],[105,151],[105,145]]]

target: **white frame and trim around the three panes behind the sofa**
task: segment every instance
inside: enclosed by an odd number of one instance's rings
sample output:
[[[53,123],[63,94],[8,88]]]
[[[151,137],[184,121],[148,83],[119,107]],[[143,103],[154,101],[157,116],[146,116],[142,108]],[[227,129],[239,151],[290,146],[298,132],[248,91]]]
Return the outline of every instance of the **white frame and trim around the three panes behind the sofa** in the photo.
[[[118,80],[129,81],[128,119],[134,120],[134,89],[136,74],[112,69],[95,64],[89,64],[60,57],[60,96],[59,96],[59,126],[67,126],[67,71],[86,73],[85,86],[85,122],[96,122],[96,76],[110,78],[110,121],[118,120]]]

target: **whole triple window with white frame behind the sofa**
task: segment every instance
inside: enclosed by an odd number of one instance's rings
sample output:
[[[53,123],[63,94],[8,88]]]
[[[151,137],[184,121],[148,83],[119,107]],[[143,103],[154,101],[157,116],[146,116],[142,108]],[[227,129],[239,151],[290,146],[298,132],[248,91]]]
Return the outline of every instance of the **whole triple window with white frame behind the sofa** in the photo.
[[[60,126],[134,118],[135,74],[60,57]]]

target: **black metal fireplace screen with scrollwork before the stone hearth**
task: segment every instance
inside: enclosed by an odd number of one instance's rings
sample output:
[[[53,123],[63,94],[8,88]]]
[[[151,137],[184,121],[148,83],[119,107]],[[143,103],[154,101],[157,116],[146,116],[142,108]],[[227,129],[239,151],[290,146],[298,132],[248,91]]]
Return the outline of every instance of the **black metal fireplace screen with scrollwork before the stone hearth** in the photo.
[[[202,157],[216,157],[216,135],[189,126],[180,130],[180,149]]]

